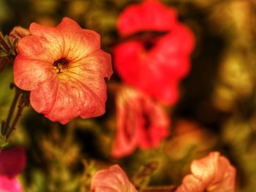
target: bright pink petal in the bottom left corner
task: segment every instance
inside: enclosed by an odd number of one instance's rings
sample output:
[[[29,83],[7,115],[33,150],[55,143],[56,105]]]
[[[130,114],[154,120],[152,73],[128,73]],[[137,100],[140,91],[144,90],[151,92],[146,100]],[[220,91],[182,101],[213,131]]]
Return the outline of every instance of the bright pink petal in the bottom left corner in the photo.
[[[1,192],[22,192],[21,185],[16,177],[8,178],[0,175]]]

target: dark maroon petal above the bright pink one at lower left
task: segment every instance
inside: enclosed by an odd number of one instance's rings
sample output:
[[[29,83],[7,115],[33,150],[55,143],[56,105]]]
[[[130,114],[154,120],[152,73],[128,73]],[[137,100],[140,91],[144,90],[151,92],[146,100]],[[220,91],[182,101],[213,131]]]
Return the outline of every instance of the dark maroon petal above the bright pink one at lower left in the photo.
[[[15,177],[23,171],[26,164],[26,156],[22,147],[13,147],[0,152],[0,174],[7,177]]]

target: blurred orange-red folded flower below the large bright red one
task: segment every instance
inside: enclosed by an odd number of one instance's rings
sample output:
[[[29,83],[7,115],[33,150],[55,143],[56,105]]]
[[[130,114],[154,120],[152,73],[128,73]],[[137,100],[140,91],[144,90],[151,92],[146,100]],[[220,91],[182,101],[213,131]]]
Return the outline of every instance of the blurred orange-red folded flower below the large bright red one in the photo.
[[[158,147],[169,134],[165,110],[140,91],[121,88],[116,96],[116,138],[111,155],[121,158],[137,147],[145,150]]]

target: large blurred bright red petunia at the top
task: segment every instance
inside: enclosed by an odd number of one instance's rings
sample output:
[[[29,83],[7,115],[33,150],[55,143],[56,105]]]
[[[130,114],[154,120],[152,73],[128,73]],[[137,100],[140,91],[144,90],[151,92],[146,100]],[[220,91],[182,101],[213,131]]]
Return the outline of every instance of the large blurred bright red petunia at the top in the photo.
[[[117,28],[127,39],[113,50],[121,79],[165,104],[175,103],[178,82],[189,72],[195,44],[189,28],[178,23],[176,11],[145,0],[124,9]]]

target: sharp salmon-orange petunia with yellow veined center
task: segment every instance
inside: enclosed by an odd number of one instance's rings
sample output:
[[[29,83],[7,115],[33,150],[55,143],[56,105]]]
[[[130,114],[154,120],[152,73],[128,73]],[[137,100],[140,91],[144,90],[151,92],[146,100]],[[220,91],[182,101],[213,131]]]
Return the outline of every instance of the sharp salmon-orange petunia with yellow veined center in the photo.
[[[64,18],[56,27],[31,23],[31,35],[18,42],[15,84],[30,93],[31,106],[60,123],[105,113],[105,77],[112,74],[110,54],[99,34]]]

